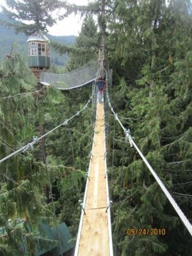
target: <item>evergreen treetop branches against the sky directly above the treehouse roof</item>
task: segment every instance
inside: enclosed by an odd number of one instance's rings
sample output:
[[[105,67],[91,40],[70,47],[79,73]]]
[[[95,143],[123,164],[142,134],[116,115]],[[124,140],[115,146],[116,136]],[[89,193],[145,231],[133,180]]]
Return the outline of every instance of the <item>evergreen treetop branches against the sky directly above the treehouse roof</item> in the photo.
[[[60,0],[6,0],[7,8],[3,7],[5,13],[13,22],[1,20],[1,23],[13,27],[16,33],[31,35],[36,31],[47,32],[47,26],[56,23],[52,12],[60,8]]]

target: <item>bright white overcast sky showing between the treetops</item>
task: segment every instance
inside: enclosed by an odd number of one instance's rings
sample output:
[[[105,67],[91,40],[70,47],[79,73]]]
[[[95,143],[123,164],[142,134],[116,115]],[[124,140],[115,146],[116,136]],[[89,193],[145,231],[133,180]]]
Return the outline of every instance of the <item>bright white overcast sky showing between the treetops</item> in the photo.
[[[67,2],[70,4],[78,4],[78,5],[86,5],[88,2],[92,2],[93,0],[68,0]],[[0,0],[0,6],[4,5],[5,0]],[[1,9],[0,9],[1,10]],[[80,15],[70,15],[64,20],[58,21],[57,24],[52,26],[49,29],[49,34],[56,36],[67,36],[67,35],[79,35],[81,31],[81,25],[83,22],[83,18]]]

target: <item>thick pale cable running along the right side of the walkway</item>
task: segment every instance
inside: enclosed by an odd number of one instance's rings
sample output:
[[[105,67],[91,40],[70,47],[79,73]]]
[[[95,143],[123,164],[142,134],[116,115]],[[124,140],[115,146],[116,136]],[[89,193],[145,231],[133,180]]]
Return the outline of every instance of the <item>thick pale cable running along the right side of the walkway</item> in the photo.
[[[160,188],[163,190],[164,195],[166,195],[166,197],[168,198],[168,200],[170,201],[170,203],[172,204],[173,208],[175,209],[175,211],[177,212],[177,214],[180,217],[180,220],[182,220],[182,222],[184,223],[185,227],[188,229],[189,233],[192,236],[192,225],[191,223],[189,223],[189,220],[186,218],[186,216],[184,215],[184,213],[181,211],[179,205],[177,205],[177,203],[175,202],[175,200],[173,199],[172,195],[170,195],[169,191],[165,188],[163,182],[159,179],[159,177],[157,176],[156,172],[153,170],[152,166],[150,166],[150,164],[148,163],[147,159],[145,158],[145,156],[143,156],[140,148],[138,148],[138,146],[136,145],[136,143],[134,142],[134,140],[132,140],[131,134],[129,131],[127,131],[124,127],[124,125],[122,125],[122,122],[120,122],[118,115],[115,113],[115,111],[113,110],[110,100],[109,100],[109,95],[108,95],[108,90],[107,90],[107,98],[108,98],[108,102],[109,102],[109,107],[111,108],[111,111],[113,112],[113,115],[115,116],[115,119],[118,121],[118,123],[121,125],[122,129],[125,132],[125,136],[129,139],[129,143],[130,145],[134,146],[134,148],[136,148],[137,152],[140,154],[141,158],[143,159],[144,163],[147,165],[148,169],[150,170],[150,172],[152,173],[152,175],[154,176],[154,178],[156,179],[157,183],[159,184]]]

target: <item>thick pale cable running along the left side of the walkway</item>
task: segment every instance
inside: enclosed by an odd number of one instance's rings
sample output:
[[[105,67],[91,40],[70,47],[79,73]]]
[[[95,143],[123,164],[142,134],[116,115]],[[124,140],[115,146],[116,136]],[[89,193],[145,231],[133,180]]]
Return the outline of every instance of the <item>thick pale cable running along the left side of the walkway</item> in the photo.
[[[9,159],[12,156],[15,156],[16,154],[18,154],[19,152],[25,152],[26,150],[28,150],[29,148],[33,149],[33,145],[35,145],[36,143],[38,143],[38,141],[40,141],[42,138],[44,138],[45,136],[47,136],[48,134],[50,134],[51,132],[55,131],[56,129],[60,128],[62,125],[67,125],[68,122],[70,120],[72,120],[72,118],[74,118],[75,116],[78,116],[79,113],[81,113],[84,109],[87,108],[88,104],[90,103],[90,101],[92,100],[92,97],[90,97],[90,99],[88,100],[88,102],[84,105],[84,107],[80,110],[77,111],[77,113],[75,115],[73,115],[72,117],[70,117],[69,119],[66,119],[63,123],[61,123],[60,125],[54,127],[54,129],[52,129],[51,131],[45,133],[44,135],[38,137],[33,137],[33,141],[28,143],[27,145],[25,145],[22,148],[19,148],[18,150],[16,150],[15,152],[13,152],[12,154],[4,157],[3,159],[0,160],[0,163],[3,163],[5,160]]]

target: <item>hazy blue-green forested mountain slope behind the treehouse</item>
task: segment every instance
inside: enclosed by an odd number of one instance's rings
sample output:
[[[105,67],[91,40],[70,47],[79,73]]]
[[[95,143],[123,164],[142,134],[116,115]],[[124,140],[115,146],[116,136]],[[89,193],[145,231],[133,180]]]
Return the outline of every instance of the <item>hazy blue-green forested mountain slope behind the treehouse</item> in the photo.
[[[0,13],[0,20],[8,20],[6,15]],[[27,55],[28,47],[27,40],[28,36],[23,33],[15,34],[13,28],[7,28],[6,26],[0,25],[0,60],[4,58],[4,56],[12,51],[12,45],[14,44],[17,51],[24,52]],[[60,42],[66,45],[72,45],[76,42],[76,36],[52,36],[46,35],[50,40],[55,40],[56,42]],[[63,54],[60,56],[54,49],[50,49],[51,52],[51,63],[56,65],[65,65],[67,62],[67,55]]]

